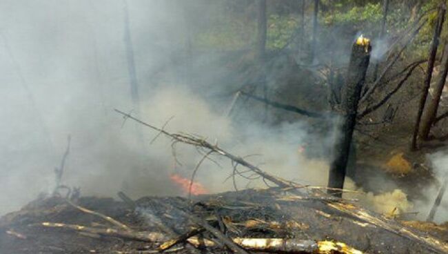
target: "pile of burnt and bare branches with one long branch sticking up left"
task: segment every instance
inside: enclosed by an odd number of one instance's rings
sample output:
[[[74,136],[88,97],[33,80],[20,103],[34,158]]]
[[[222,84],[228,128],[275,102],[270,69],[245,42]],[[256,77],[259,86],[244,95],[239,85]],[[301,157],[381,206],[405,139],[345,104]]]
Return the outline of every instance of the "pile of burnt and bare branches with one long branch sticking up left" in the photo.
[[[241,190],[198,197],[144,197],[132,200],[119,193],[127,213],[144,225],[120,222],[110,215],[81,206],[78,201],[63,199],[71,207],[108,224],[78,224],[58,221],[62,211],[45,221],[29,224],[63,232],[77,232],[101,239],[114,237],[123,242],[144,242],[147,246],[129,250],[115,248],[114,253],[448,253],[448,244],[436,237],[326,194],[326,188],[305,186],[270,175],[242,157],[192,135],[169,133],[116,110],[125,119],[133,119],[159,135],[172,138],[173,144],[196,146],[204,153],[201,160],[213,153],[232,160],[234,175],[243,166],[276,187],[264,190]],[[198,166],[201,164],[198,164]],[[196,170],[198,169],[196,166]],[[195,171],[196,171],[195,170]],[[193,181],[192,181],[193,182]],[[343,191],[343,190],[340,190]],[[79,200],[79,199],[77,199]],[[72,215],[73,213],[70,212]],[[81,222],[85,222],[81,219]],[[0,225],[1,227],[1,225]],[[17,231],[10,235],[21,238]],[[1,238],[1,237],[0,237]],[[1,239],[0,239],[1,240]]]

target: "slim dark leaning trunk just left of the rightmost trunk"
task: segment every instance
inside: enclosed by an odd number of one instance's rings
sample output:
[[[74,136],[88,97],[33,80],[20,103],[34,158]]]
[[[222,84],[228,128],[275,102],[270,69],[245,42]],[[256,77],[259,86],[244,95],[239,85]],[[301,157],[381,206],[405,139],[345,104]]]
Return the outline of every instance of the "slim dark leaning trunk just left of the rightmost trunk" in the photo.
[[[434,69],[434,61],[436,60],[437,47],[440,39],[440,32],[442,32],[443,21],[445,20],[445,12],[447,7],[445,4],[440,6],[438,10],[437,23],[434,30],[434,37],[432,39],[431,47],[429,48],[428,66],[426,71],[425,83],[422,90],[422,97],[420,97],[420,104],[418,106],[416,123],[414,125],[414,134],[411,139],[411,150],[417,148],[417,138],[419,133],[420,121],[422,119],[423,110],[425,109],[426,99],[428,97],[429,87],[431,86],[432,71]]]

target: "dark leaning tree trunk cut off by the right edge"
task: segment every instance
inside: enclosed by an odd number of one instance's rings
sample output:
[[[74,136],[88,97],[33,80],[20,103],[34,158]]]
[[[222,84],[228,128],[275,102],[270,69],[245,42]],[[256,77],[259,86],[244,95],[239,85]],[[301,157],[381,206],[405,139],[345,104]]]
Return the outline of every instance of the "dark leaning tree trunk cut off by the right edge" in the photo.
[[[428,139],[431,126],[434,124],[434,119],[437,116],[438,104],[440,101],[440,96],[442,95],[442,90],[445,87],[445,81],[447,80],[448,74],[448,44],[445,44],[445,55],[442,59],[442,72],[434,89],[434,97],[429,101],[425,115],[422,118],[422,130],[420,136],[422,139]]]

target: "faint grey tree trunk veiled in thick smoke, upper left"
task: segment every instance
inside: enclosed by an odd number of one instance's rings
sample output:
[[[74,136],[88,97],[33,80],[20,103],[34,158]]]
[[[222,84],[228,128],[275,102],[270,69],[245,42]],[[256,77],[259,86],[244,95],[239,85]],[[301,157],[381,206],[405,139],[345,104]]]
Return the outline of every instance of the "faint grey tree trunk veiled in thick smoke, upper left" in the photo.
[[[137,81],[137,75],[135,70],[134,48],[132,46],[132,40],[131,40],[128,3],[126,2],[126,0],[123,0],[123,3],[124,3],[124,25],[125,25],[123,39],[125,43],[126,58],[128,60],[128,73],[131,87],[131,98],[132,98],[132,104],[134,104],[134,110],[136,111],[137,115],[140,115],[139,82]]]

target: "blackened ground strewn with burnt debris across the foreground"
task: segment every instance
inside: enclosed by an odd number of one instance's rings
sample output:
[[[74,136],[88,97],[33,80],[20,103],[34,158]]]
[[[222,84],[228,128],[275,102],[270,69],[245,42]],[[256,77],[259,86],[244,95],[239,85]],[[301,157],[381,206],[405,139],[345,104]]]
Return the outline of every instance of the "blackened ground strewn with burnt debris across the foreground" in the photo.
[[[190,231],[193,225],[185,214],[178,211],[178,208],[185,208],[210,224],[216,222],[219,225],[216,228],[227,237],[338,241],[365,253],[443,253],[433,248],[448,250],[446,224],[396,224],[394,220],[374,215],[391,228],[400,228],[401,231],[407,228],[424,239],[419,240],[394,233],[391,229],[386,230],[375,220],[369,222],[367,219],[366,222],[335,210],[322,200],[298,197],[283,190],[271,189],[199,196],[194,198],[193,203],[179,197],[143,197],[135,202],[136,209],[112,198],[81,197],[76,202],[83,208],[108,215],[136,232],[163,233],[163,227],[172,228],[177,233]],[[343,204],[343,207],[353,211],[357,209],[351,204]],[[43,226],[47,222],[81,227],[75,230],[64,226]],[[1,217],[0,253],[151,253],[161,244],[107,233],[91,233],[83,226],[120,231],[98,215],[85,213],[62,198],[38,199],[21,211]],[[203,233],[203,237],[213,239],[207,232]],[[433,241],[433,244],[425,243],[427,240]],[[203,253],[232,253],[225,248],[202,249]],[[183,244],[177,250],[176,253],[192,253]]]

